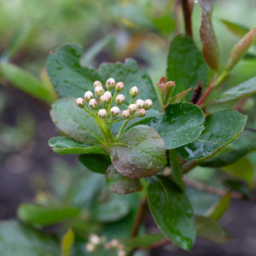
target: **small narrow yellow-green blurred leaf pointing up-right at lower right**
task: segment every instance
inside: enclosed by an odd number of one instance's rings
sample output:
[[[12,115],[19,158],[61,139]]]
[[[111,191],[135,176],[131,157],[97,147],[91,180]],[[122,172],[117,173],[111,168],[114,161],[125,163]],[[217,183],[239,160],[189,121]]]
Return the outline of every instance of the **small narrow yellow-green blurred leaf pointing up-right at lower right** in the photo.
[[[227,192],[214,206],[207,212],[207,217],[219,220],[230,207],[230,192]]]

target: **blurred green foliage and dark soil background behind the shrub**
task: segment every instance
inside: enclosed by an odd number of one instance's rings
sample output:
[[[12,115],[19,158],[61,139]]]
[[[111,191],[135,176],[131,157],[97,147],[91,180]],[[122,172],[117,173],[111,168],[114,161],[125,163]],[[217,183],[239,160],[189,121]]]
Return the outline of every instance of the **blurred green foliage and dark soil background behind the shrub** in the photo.
[[[225,0],[212,4],[212,23],[224,66],[230,49],[240,38],[228,30],[224,20],[240,24],[245,31],[253,28],[256,2]],[[93,68],[103,61],[132,57],[155,84],[166,73],[166,55],[172,38],[184,30],[180,1],[174,0],[0,0],[0,24],[0,61],[19,68],[10,73],[0,69],[0,218],[9,219],[15,218],[20,202],[60,191],[63,184],[68,186],[71,180],[79,178],[73,177],[73,172],[83,170],[76,156],[50,152],[48,140],[58,131],[49,119],[49,102],[27,93],[27,86],[32,84],[50,88],[44,67],[49,51],[77,42],[84,46],[81,63]],[[200,24],[201,9],[195,3],[193,32],[199,48]],[[252,47],[216,93],[255,74],[256,49]],[[22,79],[28,82],[20,84]],[[54,93],[52,97],[55,98]],[[220,108],[226,107],[220,104],[213,106],[212,111]],[[243,112],[251,114],[249,122],[255,127],[255,96],[247,100]],[[249,157],[256,159],[255,154]],[[194,176],[209,181],[216,173],[218,170],[205,172],[200,168]],[[152,255],[255,255],[253,202],[232,203],[221,222],[236,237],[227,245],[199,240],[190,254],[171,246]]]

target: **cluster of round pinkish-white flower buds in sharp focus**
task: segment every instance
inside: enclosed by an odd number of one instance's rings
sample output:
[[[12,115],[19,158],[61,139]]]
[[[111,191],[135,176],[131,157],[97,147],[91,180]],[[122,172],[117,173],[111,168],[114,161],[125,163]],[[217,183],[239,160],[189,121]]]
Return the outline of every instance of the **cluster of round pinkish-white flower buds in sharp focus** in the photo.
[[[87,90],[84,93],[84,99],[80,97],[76,99],[76,104],[79,108],[84,108],[90,113],[96,111],[102,119],[115,120],[135,118],[137,116],[144,117],[146,110],[152,107],[153,102],[149,99],[145,101],[138,99],[133,102],[133,99],[139,93],[137,86],[133,86],[130,90],[131,104],[127,109],[121,111],[119,106],[125,103],[125,96],[118,93],[124,90],[124,83],[116,83],[113,78],[109,78],[105,85],[106,90],[101,81],[95,81],[93,83],[94,92]],[[85,107],[85,102],[88,103],[89,110]],[[112,106],[113,103],[115,103],[115,106]]]

